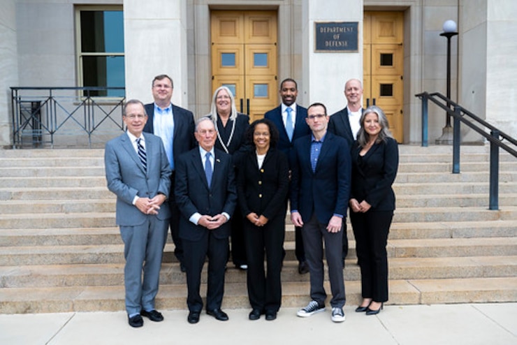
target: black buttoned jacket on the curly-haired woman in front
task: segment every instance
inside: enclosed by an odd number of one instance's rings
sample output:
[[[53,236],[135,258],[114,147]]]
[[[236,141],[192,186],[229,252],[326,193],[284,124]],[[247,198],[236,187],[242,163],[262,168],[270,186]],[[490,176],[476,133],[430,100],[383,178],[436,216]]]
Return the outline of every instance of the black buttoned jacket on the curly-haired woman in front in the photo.
[[[288,189],[289,162],[283,152],[270,148],[260,169],[254,151],[243,157],[237,191],[244,216],[252,212],[267,219],[278,214],[285,216]]]

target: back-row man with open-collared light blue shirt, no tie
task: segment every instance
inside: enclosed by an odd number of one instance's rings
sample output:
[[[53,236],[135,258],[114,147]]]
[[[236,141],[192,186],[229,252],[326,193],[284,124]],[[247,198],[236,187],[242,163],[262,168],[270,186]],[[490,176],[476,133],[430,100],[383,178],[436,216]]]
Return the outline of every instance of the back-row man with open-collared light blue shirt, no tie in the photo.
[[[163,141],[163,147],[173,170],[170,175],[170,195],[174,191],[175,159],[182,153],[196,147],[194,139],[194,115],[190,110],[180,108],[170,103],[173,96],[173,80],[165,74],[156,75],[152,80],[152,96],[154,103],[145,105],[149,121],[145,124],[144,132],[158,135]],[[174,199],[174,198],[172,198]],[[174,254],[180,261],[180,269],[185,272],[183,264],[183,246],[179,234],[180,211],[174,200],[170,200],[170,235],[175,245]]]

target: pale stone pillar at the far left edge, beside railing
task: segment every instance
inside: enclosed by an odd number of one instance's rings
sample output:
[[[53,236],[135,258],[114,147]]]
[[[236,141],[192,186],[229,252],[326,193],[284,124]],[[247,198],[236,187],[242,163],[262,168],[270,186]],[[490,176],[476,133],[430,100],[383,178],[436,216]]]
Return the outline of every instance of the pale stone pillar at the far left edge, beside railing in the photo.
[[[0,11],[0,147],[12,145],[10,87],[18,86],[16,4],[2,1]]]

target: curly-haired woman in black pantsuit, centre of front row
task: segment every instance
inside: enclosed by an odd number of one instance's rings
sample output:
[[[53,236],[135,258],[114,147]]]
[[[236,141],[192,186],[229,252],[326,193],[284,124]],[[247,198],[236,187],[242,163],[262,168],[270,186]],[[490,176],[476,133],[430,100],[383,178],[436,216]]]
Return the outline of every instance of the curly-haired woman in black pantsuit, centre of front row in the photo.
[[[237,191],[245,216],[247,288],[252,305],[249,319],[258,320],[265,314],[265,319],[272,321],[277,318],[282,302],[280,274],[289,163],[284,153],[275,149],[278,131],[270,120],[252,123],[247,138],[254,149],[242,159]],[[264,252],[267,272],[264,272]]]

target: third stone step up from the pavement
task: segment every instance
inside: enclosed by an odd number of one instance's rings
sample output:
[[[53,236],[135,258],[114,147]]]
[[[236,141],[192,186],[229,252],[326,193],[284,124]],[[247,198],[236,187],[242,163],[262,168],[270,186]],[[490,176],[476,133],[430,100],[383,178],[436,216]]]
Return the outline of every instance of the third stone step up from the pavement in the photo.
[[[356,258],[354,240],[349,240],[349,256]],[[175,261],[173,244],[166,244],[163,262]],[[284,243],[286,260],[295,260],[294,243]],[[432,238],[388,240],[389,258],[435,258],[445,256],[514,256],[516,237]],[[76,246],[0,247],[0,266],[71,265],[124,263],[124,245],[94,244]]]

